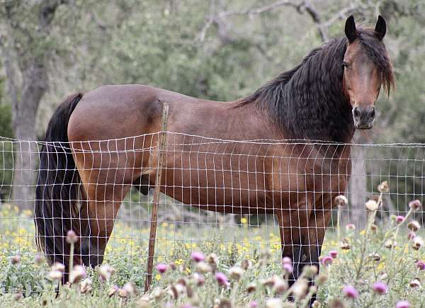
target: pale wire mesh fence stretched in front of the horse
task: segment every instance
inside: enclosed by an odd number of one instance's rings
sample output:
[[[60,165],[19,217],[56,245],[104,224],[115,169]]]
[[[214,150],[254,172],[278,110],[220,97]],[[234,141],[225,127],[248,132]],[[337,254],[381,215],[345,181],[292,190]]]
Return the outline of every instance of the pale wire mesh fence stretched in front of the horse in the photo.
[[[0,139],[2,267],[13,256],[35,258],[35,234],[50,260],[69,258],[64,237],[74,229],[81,238],[74,261],[96,266],[123,260],[142,284],[158,172],[162,194],[154,261],[177,265],[192,251],[215,252],[231,264],[264,249],[276,259],[276,270],[282,249],[300,263],[312,263],[320,249],[311,247],[321,246],[326,229],[322,251],[335,245],[336,195],[348,198],[342,223],[360,228],[365,201],[378,198],[383,181],[388,192],[378,210],[382,224],[407,212],[410,200],[424,199],[425,144],[234,141],[164,133],[162,168],[161,132],[73,143]],[[423,223],[423,212],[414,215]]]

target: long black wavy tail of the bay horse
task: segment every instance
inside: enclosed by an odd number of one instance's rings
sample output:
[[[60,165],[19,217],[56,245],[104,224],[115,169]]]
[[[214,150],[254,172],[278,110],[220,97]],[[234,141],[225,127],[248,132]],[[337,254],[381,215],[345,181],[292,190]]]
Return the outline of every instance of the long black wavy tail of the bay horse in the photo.
[[[79,210],[80,178],[67,143],[69,117],[82,96],[81,93],[69,96],[50,119],[40,149],[40,171],[35,188],[35,241],[48,263],[60,262],[66,269],[70,253],[67,232],[74,230],[79,236],[84,228],[82,224],[86,223],[81,219],[72,221]],[[77,260],[79,256],[74,258],[74,263],[79,262]]]

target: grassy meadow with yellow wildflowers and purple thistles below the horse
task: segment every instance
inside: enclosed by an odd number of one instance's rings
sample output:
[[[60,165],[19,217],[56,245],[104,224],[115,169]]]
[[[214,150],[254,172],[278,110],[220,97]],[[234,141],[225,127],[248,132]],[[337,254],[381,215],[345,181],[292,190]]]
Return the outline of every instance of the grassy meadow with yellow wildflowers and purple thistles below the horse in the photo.
[[[411,307],[425,307],[421,287],[425,270],[416,265],[425,259],[424,249],[419,235],[407,236],[412,212],[401,223],[392,217],[385,226],[375,226],[376,211],[372,210],[363,230],[342,226],[327,232],[322,258],[331,250],[336,258],[326,259],[331,264],[321,266],[313,288],[301,279],[291,290],[284,279],[288,273],[281,266],[278,229],[251,228],[242,220],[242,226],[218,228],[160,224],[155,262],[164,263],[167,270],[163,274],[155,270],[152,288],[144,294],[149,230],[117,222],[104,261],[114,268],[111,277],[101,280],[99,268],[87,269],[84,283],[61,287],[57,296],[57,284],[46,278],[50,268],[33,244],[31,212],[1,205],[0,306],[254,307],[256,303],[258,307],[305,307],[318,288],[315,307],[395,307],[402,300]],[[193,251],[205,256],[214,253],[217,258],[196,263]],[[217,283],[218,272],[229,278],[228,285]],[[305,278],[312,274],[303,273]],[[374,290],[377,282],[387,286],[385,294]],[[114,287],[118,291],[111,295]],[[350,292],[353,289],[358,296]],[[295,304],[288,302],[290,295]]]

